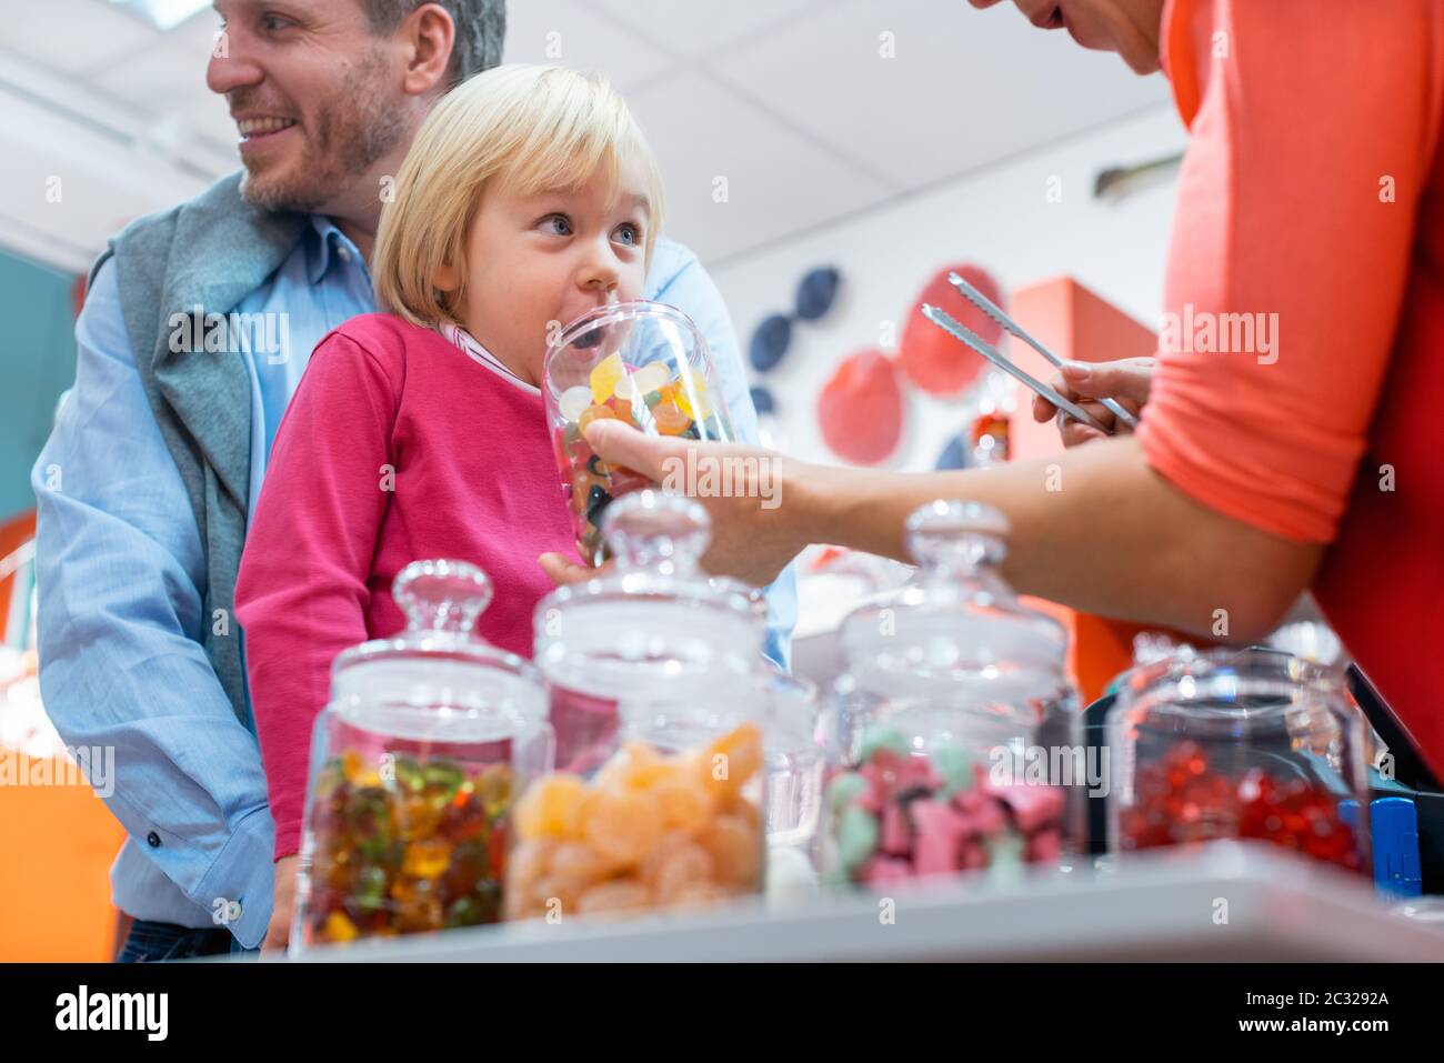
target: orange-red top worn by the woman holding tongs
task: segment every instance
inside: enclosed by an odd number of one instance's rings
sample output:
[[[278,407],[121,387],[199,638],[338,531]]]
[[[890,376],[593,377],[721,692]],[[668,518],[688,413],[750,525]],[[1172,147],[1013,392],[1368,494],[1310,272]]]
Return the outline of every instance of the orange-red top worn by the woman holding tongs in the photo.
[[[1444,777],[1444,0],[1170,0],[1162,59],[1191,140],[1139,443],[1330,544],[1315,596]]]

